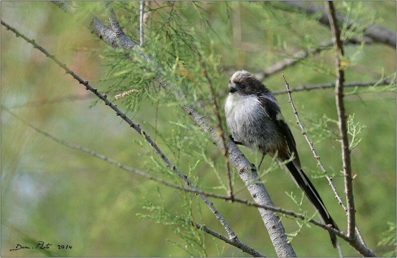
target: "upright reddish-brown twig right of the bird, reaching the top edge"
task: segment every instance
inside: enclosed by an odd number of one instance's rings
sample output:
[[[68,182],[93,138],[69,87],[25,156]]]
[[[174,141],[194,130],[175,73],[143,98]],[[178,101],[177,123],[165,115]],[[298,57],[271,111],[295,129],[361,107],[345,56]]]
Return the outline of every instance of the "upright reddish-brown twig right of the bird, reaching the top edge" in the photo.
[[[344,174],[344,189],[346,194],[347,204],[347,235],[354,239],[355,236],[355,208],[354,208],[354,196],[353,196],[353,177],[351,173],[351,161],[350,161],[350,150],[349,150],[349,138],[347,136],[347,123],[346,123],[346,111],[343,103],[343,83],[344,83],[344,71],[340,64],[340,57],[344,55],[343,45],[340,41],[340,33],[337,24],[335,9],[332,1],[327,1],[328,7],[328,18],[330,20],[330,26],[332,31],[333,45],[335,48],[335,69],[336,69],[336,83],[335,83],[335,102],[336,110],[338,114],[338,128],[341,138],[342,148],[342,162],[343,162],[343,174]]]

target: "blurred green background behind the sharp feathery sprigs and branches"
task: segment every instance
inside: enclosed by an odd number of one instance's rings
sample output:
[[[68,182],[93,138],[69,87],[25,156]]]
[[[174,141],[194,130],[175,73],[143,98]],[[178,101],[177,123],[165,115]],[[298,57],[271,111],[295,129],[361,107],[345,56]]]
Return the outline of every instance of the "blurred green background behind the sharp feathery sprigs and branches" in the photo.
[[[131,4],[138,6],[138,2]],[[156,4],[161,6],[163,3],[152,2],[151,7]],[[188,26],[196,30],[205,29],[199,24],[199,11],[192,3],[175,4],[188,17]],[[305,41],[303,39],[308,39],[306,43],[331,40],[329,28],[313,20],[301,20],[301,14],[276,8],[282,4],[201,4],[214,35],[217,35],[213,36],[212,44],[214,51],[221,56],[221,76],[224,77],[224,85],[217,87],[224,89],[228,77],[235,70],[260,72],[285,57],[285,49],[289,52],[303,49],[299,43]],[[362,17],[373,15],[376,24],[396,31],[395,1],[339,2],[336,6],[347,8],[344,4],[353,8],[360,6]],[[265,8],[268,12],[263,11]],[[228,17],[228,14],[231,16]],[[279,19],[274,21],[274,17]],[[100,81],[106,71],[103,59],[96,52],[83,51],[102,49],[105,44],[51,2],[1,1],[1,20],[55,53],[94,87],[107,89],[106,82]],[[137,24],[129,26],[130,30],[138,29]],[[349,45],[346,52],[354,54],[357,48],[356,45]],[[137,144],[141,137],[122,123],[107,106],[97,104],[89,108],[94,100],[89,92],[52,60],[16,38],[3,26],[1,57],[1,104],[60,139],[145,171],[143,160],[152,153],[147,153]],[[325,68],[316,65],[322,62]],[[294,88],[333,82],[334,76],[321,71],[322,68],[334,71],[333,65],[330,49],[284,72],[290,87]],[[377,81],[382,74],[390,75],[395,71],[395,49],[382,44],[366,45],[354,58],[354,64],[346,70],[346,82]],[[284,89],[280,72],[264,82],[270,90]],[[348,92],[352,90],[346,89]],[[68,99],[69,96],[72,98]],[[319,169],[295,124],[287,96],[278,95],[276,98],[292,127],[303,167],[309,175],[314,175],[312,172]],[[314,127],[313,120],[323,117],[323,114],[337,119],[333,89],[296,92],[293,98],[307,128]],[[222,105],[223,101],[224,97],[221,98]],[[346,96],[345,103],[347,112],[354,114],[355,122],[366,126],[360,134],[361,143],[352,152],[353,173],[356,174],[357,224],[366,244],[382,255],[391,248],[377,246],[381,233],[389,228],[388,221],[396,221],[396,92]],[[123,103],[119,107],[126,110]],[[177,112],[180,112],[178,106],[160,104],[157,128],[165,136],[177,127],[171,123],[176,121]],[[144,101],[136,112],[131,111],[130,114],[136,123],[145,127],[147,123],[155,123],[156,106]],[[148,125],[145,130],[154,135]],[[173,160],[174,156],[162,143],[158,139],[160,148]],[[207,148],[217,166],[222,166],[224,159],[217,149],[211,145]],[[330,173],[341,170],[338,142],[325,139],[315,148]],[[241,149],[255,163],[258,157]],[[268,166],[270,158],[266,157],[264,162],[263,166]],[[182,162],[179,167],[186,171],[193,164]],[[223,171],[222,168],[220,170]],[[195,175],[202,190],[214,191],[212,187],[216,179],[211,171],[207,163],[199,162]],[[264,181],[276,206],[296,210],[296,205],[285,192],[293,191],[299,197],[300,190],[286,172],[276,169],[266,174]],[[346,232],[345,212],[335,201],[327,180],[321,177],[312,181],[339,228]],[[335,177],[334,183],[339,194],[343,195],[343,177]],[[154,191],[157,186],[161,189],[167,210],[178,212],[181,209],[180,203],[175,201],[178,192],[57,144],[3,109],[1,111],[1,256],[187,256],[188,253],[172,243],[182,243],[181,238],[171,230],[172,226],[142,220],[136,215],[147,213],[142,208],[147,203],[145,200],[158,201],[158,194]],[[242,187],[241,180],[236,177],[235,189]],[[246,190],[239,196],[250,199]],[[197,203],[197,198],[194,200]],[[217,199],[213,202],[241,241],[267,256],[275,255],[256,208]],[[313,214],[307,200],[303,208]],[[208,227],[226,234],[205,206],[201,210]],[[298,228],[295,221],[287,218],[283,218],[283,224],[289,233]],[[213,241],[210,236],[205,236],[205,239],[208,256],[218,255],[215,243],[219,248],[225,246],[224,256],[247,256],[219,240]],[[30,246],[30,241],[44,241],[55,247],[71,245],[72,249],[61,251],[54,248],[50,249],[51,253],[39,250],[9,252],[17,243]],[[337,255],[328,233],[315,226],[304,227],[292,245],[298,256]],[[359,256],[348,244],[341,241],[341,245],[345,256]]]

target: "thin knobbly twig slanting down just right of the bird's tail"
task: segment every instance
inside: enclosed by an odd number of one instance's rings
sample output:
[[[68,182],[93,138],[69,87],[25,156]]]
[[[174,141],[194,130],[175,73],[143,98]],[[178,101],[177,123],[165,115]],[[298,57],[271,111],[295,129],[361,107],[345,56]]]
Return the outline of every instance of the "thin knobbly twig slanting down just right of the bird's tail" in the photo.
[[[296,110],[295,104],[292,101],[291,89],[289,88],[289,84],[288,84],[287,80],[285,79],[284,72],[282,72],[282,77],[284,79],[285,88],[286,88],[287,93],[288,93],[288,102],[291,103],[292,111],[294,112],[295,117],[296,117],[296,123],[301,128],[302,134],[304,135],[305,140],[306,140],[306,142],[308,143],[308,145],[310,147],[310,150],[312,151],[315,159],[317,160],[317,164],[320,166],[321,170],[324,172],[324,174],[325,174],[325,176],[326,176],[326,178],[328,180],[328,183],[330,184],[331,189],[332,189],[333,193],[335,194],[335,198],[338,200],[338,204],[340,206],[342,206],[343,209],[346,211],[346,206],[343,204],[342,198],[338,194],[338,192],[336,190],[336,187],[333,184],[332,177],[330,177],[328,175],[323,163],[320,161],[320,155],[317,154],[316,150],[314,149],[313,142],[311,142],[309,137],[307,136],[307,133],[306,133],[304,127],[303,127],[303,124],[302,124],[300,118],[299,118],[298,111]],[[356,227],[357,235],[360,237],[360,239],[362,239],[361,233],[360,233],[357,225],[355,227]],[[348,238],[346,241],[348,241],[350,243],[350,245],[352,245],[352,246],[354,245],[353,247],[355,247],[356,250],[359,251],[362,255],[370,256],[370,257],[376,256],[375,253],[365,245],[364,240],[359,242],[359,241],[355,241],[355,239]]]

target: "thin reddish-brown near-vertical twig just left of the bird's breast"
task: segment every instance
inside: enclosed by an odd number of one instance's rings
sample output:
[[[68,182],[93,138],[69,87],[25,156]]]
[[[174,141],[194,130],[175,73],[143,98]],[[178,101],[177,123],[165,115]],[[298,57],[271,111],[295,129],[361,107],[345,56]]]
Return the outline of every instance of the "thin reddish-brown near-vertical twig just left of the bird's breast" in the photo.
[[[230,176],[230,166],[229,166],[229,148],[226,144],[226,134],[225,134],[225,130],[223,129],[223,122],[222,122],[222,117],[220,115],[219,112],[219,104],[216,98],[216,94],[215,94],[215,89],[214,86],[212,84],[212,80],[208,75],[207,69],[205,67],[205,63],[204,60],[202,60],[201,58],[201,54],[199,52],[197,52],[198,56],[199,56],[199,62],[201,64],[202,67],[202,73],[205,77],[205,79],[207,79],[208,85],[209,85],[209,90],[211,91],[211,97],[212,97],[212,102],[215,105],[215,114],[216,114],[216,118],[217,118],[217,122],[218,122],[218,129],[219,129],[219,136],[222,139],[222,145],[223,145],[223,152],[222,154],[225,156],[225,164],[226,164],[226,175],[227,175],[227,182],[228,182],[228,186],[229,186],[229,197],[230,200],[233,202],[233,186],[232,186],[232,179]]]

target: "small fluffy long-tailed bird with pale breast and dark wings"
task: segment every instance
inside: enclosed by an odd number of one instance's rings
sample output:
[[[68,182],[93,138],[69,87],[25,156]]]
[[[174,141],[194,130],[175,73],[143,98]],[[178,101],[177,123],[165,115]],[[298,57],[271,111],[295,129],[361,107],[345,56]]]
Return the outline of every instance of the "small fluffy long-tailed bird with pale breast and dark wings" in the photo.
[[[275,156],[279,163],[292,159],[285,164],[292,178],[318,209],[324,222],[338,229],[319,193],[301,168],[294,136],[270,91],[244,70],[232,75],[228,89],[225,115],[227,126],[233,134],[231,139],[236,144],[262,152],[258,169],[266,154]],[[336,247],[336,236],[331,232],[330,236],[332,245]]]

